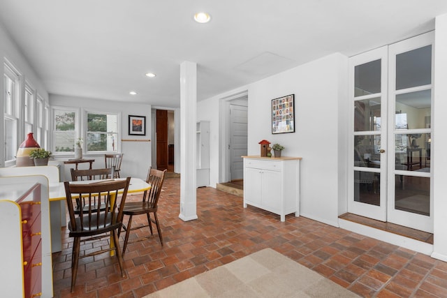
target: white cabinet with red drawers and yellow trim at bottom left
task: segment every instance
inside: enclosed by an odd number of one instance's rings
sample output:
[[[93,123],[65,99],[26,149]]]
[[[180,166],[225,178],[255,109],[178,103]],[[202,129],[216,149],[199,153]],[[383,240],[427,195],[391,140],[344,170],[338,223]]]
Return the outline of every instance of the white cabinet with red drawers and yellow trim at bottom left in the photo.
[[[0,177],[1,297],[53,297],[48,203],[46,177]]]

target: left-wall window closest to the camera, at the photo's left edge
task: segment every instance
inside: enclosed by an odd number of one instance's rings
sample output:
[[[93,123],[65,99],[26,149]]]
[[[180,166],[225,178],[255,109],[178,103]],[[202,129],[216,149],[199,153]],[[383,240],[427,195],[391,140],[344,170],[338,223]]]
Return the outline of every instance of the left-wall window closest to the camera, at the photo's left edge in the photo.
[[[19,123],[19,74],[9,64],[4,64],[4,135],[5,165],[13,165],[17,154]]]

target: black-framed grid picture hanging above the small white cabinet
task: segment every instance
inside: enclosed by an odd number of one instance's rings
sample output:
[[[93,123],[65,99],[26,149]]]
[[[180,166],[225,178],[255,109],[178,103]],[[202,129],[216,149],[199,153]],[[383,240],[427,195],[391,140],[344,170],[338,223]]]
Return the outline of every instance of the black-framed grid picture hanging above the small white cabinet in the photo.
[[[295,133],[295,94],[272,99],[272,134]]]

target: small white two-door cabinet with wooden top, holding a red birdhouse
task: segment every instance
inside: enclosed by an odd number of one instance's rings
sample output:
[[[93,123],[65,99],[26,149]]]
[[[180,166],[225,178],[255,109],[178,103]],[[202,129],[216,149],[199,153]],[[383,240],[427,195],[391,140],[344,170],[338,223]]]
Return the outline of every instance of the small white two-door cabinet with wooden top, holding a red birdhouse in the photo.
[[[286,220],[286,214],[300,216],[299,157],[244,158],[244,208],[258,207]]]

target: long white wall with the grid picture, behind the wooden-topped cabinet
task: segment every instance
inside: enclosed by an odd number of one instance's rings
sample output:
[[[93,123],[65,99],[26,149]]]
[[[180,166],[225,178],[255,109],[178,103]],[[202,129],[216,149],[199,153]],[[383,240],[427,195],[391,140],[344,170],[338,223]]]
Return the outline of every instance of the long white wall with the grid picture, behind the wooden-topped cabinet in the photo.
[[[259,155],[265,139],[283,144],[285,156],[301,156],[301,214],[338,226],[347,200],[347,65],[332,54],[200,101],[198,120],[210,121],[211,186],[219,180],[219,99],[248,88],[248,155]],[[295,94],[295,133],[272,135],[271,100],[288,94]]]

